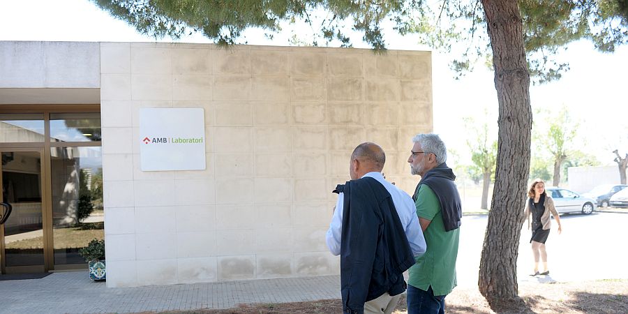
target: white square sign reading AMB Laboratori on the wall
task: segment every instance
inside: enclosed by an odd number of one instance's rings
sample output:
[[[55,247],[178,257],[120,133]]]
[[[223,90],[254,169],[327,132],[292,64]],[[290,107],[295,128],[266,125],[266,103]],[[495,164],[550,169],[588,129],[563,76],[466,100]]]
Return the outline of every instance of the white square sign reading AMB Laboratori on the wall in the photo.
[[[204,170],[203,108],[140,109],[142,171]]]

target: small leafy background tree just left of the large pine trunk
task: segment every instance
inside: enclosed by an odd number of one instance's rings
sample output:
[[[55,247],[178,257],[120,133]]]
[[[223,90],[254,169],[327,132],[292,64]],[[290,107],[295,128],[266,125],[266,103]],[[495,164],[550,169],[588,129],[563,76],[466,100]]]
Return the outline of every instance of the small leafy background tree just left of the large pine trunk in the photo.
[[[488,112],[485,112],[484,116],[488,116]],[[482,198],[480,208],[488,209],[488,188],[491,186],[491,178],[495,173],[498,143],[497,140],[491,140],[486,121],[478,127],[473,118],[467,118],[465,119],[465,126],[472,135],[472,138],[467,140],[473,163],[473,167],[469,168],[470,174],[474,172],[481,174]]]

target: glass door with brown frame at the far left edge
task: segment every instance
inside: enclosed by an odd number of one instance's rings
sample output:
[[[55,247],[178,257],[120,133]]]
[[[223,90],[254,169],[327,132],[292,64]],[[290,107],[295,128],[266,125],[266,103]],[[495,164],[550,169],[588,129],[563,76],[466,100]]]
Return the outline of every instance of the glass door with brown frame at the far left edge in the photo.
[[[0,148],[1,202],[12,207],[0,225],[2,274],[45,271],[43,150]],[[6,211],[5,211],[6,213]]]

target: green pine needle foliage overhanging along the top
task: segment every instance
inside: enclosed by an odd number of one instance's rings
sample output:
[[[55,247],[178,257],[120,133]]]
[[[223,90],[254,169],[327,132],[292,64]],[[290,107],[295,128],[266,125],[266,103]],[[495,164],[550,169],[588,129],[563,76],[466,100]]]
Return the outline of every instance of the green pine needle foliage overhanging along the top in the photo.
[[[218,44],[239,43],[244,30],[263,29],[267,36],[301,20],[320,33],[311,45],[352,45],[351,33],[376,50],[386,47],[382,24],[398,33],[414,33],[419,42],[442,52],[453,52],[451,68],[458,74],[477,63],[491,65],[490,40],[480,1],[457,0],[92,0],[140,33],[181,38],[202,33]],[[520,0],[525,51],[535,82],[557,80],[569,70],[558,52],[580,39],[591,40],[597,50],[613,52],[628,38],[628,1],[625,0]],[[350,29],[345,26],[349,23]],[[337,40],[337,41],[336,41]],[[305,43],[292,38],[292,43]],[[464,43],[458,49],[456,43]]]

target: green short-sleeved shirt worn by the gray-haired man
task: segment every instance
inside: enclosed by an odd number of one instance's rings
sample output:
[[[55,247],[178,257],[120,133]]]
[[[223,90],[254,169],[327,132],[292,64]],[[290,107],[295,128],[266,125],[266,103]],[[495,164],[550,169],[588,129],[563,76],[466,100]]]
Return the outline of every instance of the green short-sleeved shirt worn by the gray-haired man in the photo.
[[[431,285],[434,295],[449,294],[456,287],[456,257],[460,228],[445,232],[440,202],[434,191],[421,184],[417,191],[417,215],[431,220],[423,232],[427,250],[417,257],[417,264],[410,267],[408,285],[427,291]]]

